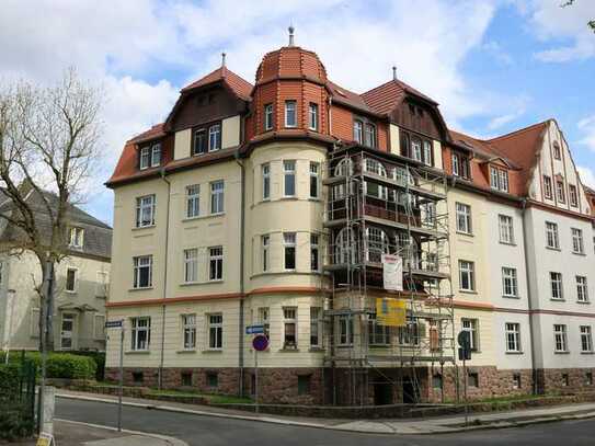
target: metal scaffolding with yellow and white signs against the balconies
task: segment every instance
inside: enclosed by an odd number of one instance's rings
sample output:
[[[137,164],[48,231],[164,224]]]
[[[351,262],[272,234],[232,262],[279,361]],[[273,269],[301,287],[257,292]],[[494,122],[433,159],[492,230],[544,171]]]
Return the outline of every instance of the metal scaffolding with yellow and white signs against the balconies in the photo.
[[[324,185],[332,402],[378,404],[394,402],[393,396],[420,402],[419,370],[425,368],[430,391],[435,366],[444,400],[444,365],[455,365],[446,175],[408,158],[351,146],[329,155]],[[402,291],[384,288],[384,253],[403,261]],[[377,298],[405,300],[407,325],[378,323]],[[385,391],[388,386],[385,400],[377,386]]]

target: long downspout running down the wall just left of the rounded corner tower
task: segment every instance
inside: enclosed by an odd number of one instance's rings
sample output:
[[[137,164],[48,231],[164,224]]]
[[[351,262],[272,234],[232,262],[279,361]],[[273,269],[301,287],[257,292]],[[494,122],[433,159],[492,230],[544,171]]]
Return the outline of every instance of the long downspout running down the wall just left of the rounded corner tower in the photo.
[[[244,126],[245,118],[241,121],[240,127],[240,140],[244,140]],[[238,322],[238,367],[240,369],[238,393],[243,397],[243,368],[244,368],[244,220],[245,220],[245,169],[243,162],[240,161],[240,147],[236,150],[236,162],[240,167],[240,308],[239,308],[239,322]]]

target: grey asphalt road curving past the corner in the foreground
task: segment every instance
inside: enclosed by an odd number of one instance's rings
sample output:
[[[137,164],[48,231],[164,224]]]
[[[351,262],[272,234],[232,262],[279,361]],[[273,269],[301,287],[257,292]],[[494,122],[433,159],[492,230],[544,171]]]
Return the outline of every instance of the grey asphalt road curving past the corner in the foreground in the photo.
[[[116,425],[116,405],[58,398],[56,416]],[[123,427],[183,439],[188,445],[219,446],[384,446],[384,445],[595,445],[595,420],[534,424],[526,427],[446,435],[371,435],[244,420],[123,408]]]

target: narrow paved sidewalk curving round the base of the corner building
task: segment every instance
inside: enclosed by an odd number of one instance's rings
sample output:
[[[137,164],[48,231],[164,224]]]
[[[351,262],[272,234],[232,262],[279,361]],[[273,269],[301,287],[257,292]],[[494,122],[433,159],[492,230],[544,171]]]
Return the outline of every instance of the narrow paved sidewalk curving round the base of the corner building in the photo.
[[[116,403],[117,397],[95,394],[60,389],[58,398],[71,398],[88,401]],[[469,424],[465,426],[465,416],[442,416],[432,419],[407,420],[330,420],[254,414],[238,410],[219,409],[209,405],[184,403],[160,403],[155,400],[140,398],[124,398],[125,405],[164,410],[170,412],[192,413],[203,416],[218,416],[237,420],[248,420],[293,426],[327,428],[347,432],[373,434],[445,434],[481,428],[503,428],[523,426],[535,423],[547,423],[561,420],[582,420],[595,418],[595,403],[548,407],[542,409],[525,409],[513,412],[471,413]]]

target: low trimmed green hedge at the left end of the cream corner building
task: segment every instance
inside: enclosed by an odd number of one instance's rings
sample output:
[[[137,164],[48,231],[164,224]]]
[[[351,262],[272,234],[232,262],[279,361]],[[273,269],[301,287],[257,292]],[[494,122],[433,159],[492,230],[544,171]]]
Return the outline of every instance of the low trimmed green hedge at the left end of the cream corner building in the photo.
[[[25,357],[37,366],[37,374],[42,369],[42,355],[39,352],[26,352]],[[0,355],[3,361],[3,355]],[[12,364],[21,362],[21,353],[14,352],[10,355]],[[92,357],[77,356],[71,353],[48,353],[47,355],[47,377],[65,379],[95,379],[98,365]]]

